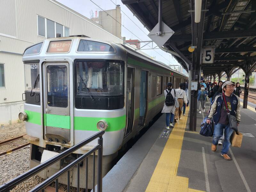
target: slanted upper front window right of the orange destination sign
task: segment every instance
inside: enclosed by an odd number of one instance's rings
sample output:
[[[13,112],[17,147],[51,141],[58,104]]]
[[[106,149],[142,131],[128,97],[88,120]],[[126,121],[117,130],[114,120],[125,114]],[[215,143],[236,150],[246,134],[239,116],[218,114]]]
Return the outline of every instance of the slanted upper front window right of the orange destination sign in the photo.
[[[96,41],[88,41],[88,40],[80,40],[78,48],[78,52],[114,52],[114,48],[109,44],[96,42]]]

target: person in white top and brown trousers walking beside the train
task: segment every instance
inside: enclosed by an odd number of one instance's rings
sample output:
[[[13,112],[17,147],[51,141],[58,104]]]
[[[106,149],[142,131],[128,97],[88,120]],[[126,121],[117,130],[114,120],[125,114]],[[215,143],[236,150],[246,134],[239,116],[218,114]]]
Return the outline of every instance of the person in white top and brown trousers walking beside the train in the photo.
[[[183,88],[183,83],[179,84],[179,89],[176,89],[176,97],[179,102],[179,107],[175,109],[175,117],[174,117],[174,122],[177,122],[179,119],[181,119],[181,108],[183,107],[183,103],[188,103],[187,95],[186,92],[182,89]]]

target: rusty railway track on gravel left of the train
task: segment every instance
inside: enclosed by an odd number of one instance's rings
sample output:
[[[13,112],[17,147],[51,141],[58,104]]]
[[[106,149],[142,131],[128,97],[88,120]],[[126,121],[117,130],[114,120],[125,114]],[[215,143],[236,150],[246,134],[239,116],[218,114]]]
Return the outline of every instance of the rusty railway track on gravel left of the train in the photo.
[[[24,134],[25,135],[25,134]],[[12,153],[13,151],[17,151],[18,149],[21,149],[23,147],[26,147],[28,146],[30,143],[25,143],[25,144],[19,144],[19,143],[15,143],[14,141],[17,141],[17,140],[20,140],[23,138],[23,135],[20,135],[18,137],[14,137],[12,139],[8,139],[8,140],[4,140],[4,141],[1,141],[0,142],[0,156],[3,156],[3,155],[6,155],[6,154],[9,154],[9,153]],[[1,146],[3,145],[10,145],[10,146],[17,146],[15,148],[11,148],[11,149],[8,149],[8,150],[1,150]]]

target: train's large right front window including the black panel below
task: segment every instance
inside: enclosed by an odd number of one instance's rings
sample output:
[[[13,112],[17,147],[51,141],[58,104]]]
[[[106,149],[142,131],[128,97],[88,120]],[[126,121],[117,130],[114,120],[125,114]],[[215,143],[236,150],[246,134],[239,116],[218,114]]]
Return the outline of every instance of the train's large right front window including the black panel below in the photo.
[[[124,107],[123,62],[75,61],[75,67],[76,108],[110,110]]]

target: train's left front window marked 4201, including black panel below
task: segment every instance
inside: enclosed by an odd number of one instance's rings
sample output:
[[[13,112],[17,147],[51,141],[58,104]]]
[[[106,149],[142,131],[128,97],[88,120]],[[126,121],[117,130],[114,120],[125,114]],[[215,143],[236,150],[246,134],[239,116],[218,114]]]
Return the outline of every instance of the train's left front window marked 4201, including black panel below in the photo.
[[[26,103],[40,105],[39,63],[26,63],[25,70],[25,94]]]

